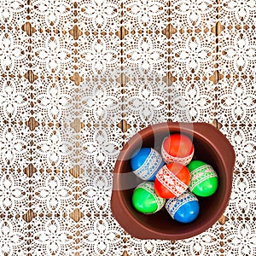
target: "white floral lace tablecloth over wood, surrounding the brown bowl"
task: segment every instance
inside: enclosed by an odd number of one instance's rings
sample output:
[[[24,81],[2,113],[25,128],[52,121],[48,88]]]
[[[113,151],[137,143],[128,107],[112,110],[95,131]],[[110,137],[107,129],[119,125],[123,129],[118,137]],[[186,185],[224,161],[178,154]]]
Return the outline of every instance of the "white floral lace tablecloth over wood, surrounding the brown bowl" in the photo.
[[[0,255],[256,255],[254,0],[0,3]],[[143,127],[216,125],[236,150],[222,218],[138,240],[110,210]]]

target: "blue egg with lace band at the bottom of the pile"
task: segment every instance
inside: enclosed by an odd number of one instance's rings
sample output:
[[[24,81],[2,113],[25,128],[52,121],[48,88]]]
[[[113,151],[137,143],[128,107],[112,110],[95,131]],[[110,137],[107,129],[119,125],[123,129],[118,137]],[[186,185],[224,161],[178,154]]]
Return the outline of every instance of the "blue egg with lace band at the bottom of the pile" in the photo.
[[[183,195],[166,201],[166,210],[178,222],[190,223],[197,218],[200,206],[195,195],[186,191]]]

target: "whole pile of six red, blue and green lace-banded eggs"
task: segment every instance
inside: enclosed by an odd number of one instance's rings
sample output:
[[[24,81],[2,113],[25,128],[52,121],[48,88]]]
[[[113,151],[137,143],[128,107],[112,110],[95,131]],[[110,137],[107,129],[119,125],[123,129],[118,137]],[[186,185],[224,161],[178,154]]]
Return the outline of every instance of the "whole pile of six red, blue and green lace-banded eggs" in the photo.
[[[213,195],[218,188],[212,166],[192,160],[195,150],[190,138],[181,133],[166,137],[160,153],[140,148],[131,158],[131,169],[144,182],[133,191],[133,207],[145,214],[165,207],[178,222],[194,221],[200,212],[196,196]]]

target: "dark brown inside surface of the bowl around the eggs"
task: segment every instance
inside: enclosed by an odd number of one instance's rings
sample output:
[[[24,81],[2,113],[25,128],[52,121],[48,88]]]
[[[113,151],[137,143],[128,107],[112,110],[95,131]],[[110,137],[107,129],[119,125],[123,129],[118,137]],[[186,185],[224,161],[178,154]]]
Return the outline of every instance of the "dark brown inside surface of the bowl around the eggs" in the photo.
[[[156,149],[160,152],[160,147],[163,139],[172,133],[180,132],[177,128],[169,127],[169,131],[152,131],[142,134],[143,143],[131,143],[128,150],[125,152],[125,160],[122,160],[119,165],[119,172],[128,173],[131,171],[130,159],[134,152],[141,147],[150,147]],[[224,172],[224,163],[218,155],[216,148],[213,148],[211,143],[209,143],[208,138],[201,136],[201,134],[194,133],[193,131],[182,131],[183,134],[189,136],[193,140],[195,147],[194,160],[202,160],[207,164],[211,165],[215,172],[218,174],[218,189],[217,191],[209,197],[203,198],[198,197],[200,203],[200,214],[194,222],[190,224],[181,224],[173,220],[171,216],[163,208],[160,212],[154,214],[145,215],[143,213],[137,212],[131,204],[131,197],[134,188],[137,184],[142,183],[143,180],[139,179],[136,175],[131,175],[130,183],[134,183],[135,186],[132,189],[121,189],[119,191],[123,204],[125,205],[125,210],[130,212],[131,216],[136,219],[137,223],[142,224],[146,229],[149,229],[156,233],[174,235],[179,237],[184,233],[193,232],[201,228],[203,224],[207,224],[212,221],[212,216],[221,207],[224,199],[225,183],[226,183],[226,172]],[[120,188],[125,188],[127,181],[125,178],[120,178],[119,184]],[[155,237],[157,238],[157,237]]]

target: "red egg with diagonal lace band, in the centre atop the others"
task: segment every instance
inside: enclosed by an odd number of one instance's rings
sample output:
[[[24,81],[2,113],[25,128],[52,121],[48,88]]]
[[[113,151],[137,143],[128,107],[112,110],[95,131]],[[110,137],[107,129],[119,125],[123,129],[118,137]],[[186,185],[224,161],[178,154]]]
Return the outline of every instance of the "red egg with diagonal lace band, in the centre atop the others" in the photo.
[[[189,169],[180,163],[172,162],[157,172],[154,180],[155,193],[166,199],[182,195],[188,189],[189,181]]]

